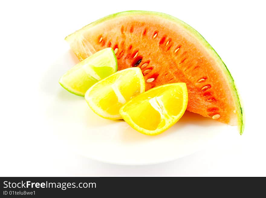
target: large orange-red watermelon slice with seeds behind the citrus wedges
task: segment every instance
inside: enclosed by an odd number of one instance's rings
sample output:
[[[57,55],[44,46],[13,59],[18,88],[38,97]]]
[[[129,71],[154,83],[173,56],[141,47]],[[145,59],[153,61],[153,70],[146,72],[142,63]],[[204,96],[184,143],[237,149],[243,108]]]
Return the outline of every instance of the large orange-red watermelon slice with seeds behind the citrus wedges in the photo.
[[[185,82],[187,110],[243,132],[234,80],[209,43],[192,27],[167,14],[126,11],[99,19],[66,37],[80,61],[112,47],[118,70],[140,67],[146,90]]]

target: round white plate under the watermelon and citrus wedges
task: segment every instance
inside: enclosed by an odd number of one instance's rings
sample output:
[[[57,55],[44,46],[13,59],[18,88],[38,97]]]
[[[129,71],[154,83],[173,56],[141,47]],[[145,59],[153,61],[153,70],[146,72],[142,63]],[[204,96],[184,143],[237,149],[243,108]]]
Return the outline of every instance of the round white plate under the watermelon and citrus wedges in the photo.
[[[77,62],[73,53],[66,51],[44,74],[42,89],[49,101],[45,114],[51,130],[80,155],[114,164],[154,164],[190,155],[222,132],[237,133],[235,127],[190,112],[157,136],[143,135],[125,121],[101,118],[83,97],[67,92],[58,83]]]

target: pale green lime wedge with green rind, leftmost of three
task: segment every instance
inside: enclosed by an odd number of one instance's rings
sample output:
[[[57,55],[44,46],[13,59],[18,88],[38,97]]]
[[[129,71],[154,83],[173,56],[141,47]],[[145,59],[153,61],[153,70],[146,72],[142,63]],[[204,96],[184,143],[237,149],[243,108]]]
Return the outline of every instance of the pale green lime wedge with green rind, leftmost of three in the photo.
[[[84,96],[99,80],[117,71],[117,60],[112,48],[105,48],[76,64],[64,74],[59,83],[70,93]]]

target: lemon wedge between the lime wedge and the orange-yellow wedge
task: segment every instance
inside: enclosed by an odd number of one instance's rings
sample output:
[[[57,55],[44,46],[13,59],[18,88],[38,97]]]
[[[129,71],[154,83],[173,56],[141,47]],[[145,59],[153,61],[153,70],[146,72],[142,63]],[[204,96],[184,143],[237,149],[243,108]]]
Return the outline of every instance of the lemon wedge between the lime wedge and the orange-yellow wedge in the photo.
[[[127,68],[95,83],[85,94],[89,107],[102,118],[122,119],[119,109],[145,91],[141,69]]]

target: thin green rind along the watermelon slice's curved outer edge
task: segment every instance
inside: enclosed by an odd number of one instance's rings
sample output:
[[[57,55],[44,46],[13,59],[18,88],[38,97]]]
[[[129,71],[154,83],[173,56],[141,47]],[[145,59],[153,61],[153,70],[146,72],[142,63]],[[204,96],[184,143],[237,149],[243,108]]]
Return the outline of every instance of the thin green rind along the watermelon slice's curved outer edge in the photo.
[[[174,22],[176,22],[177,24],[183,26],[186,30],[188,30],[189,33],[191,33],[193,36],[195,36],[197,39],[200,40],[201,44],[203,44],[207,49],[209,49],[209,51],[212,53],[213,57],[216,58],[216,60],[218,62],[220,62],[220,68],[225,72],[225,76],[227,77],[227,80],[229,81],[229,84],[231,85],[232,88],[232,93],[235,95],[235,102],[238,103],[238,128],[239,128],[239,133],[242,134],[243,130],[244,130],[244,111],[243,108],[241,106],[241,100],[239,98],[238,95],[238,91],[237,88],[235,86],[235,81],[231,75],[231,73],[229,72],[228,68],[226,67],[225,63],[222,61],[221,57],[217,54],[217,52],[212,48],[212,46],[206,41],[206,39],[203,38],[203,36],[198,33],[193,27],[191,27],[190,25],[186,24],[185,22],[183,22],[182,20],[173,17],[169,14],[164,14],[161,12],[154,12],[154,11],[137,11],[137,10],[132,10],[132,11],[123,11],[123,12],[118,12],[115,14],[111,14],[108,15],[106,17],[103,17],[99,20],[96,20],[94,22],[92,22],[89,25],[86,25],[86,28],[91,28],[99,23],[105,22],[109,19],[113,19],[115,17],[122,17],[122,16],[126,16],[126,15],[131,15],[131,14],[148,14],[148,15],[155,15],[158,17],[163,17],[165,19],[168,20],[172,20]],[[70,35],[69,35],[70,36]],[[66,37],[66,40],[68,39],[68,36]],[[223,67],[224,66],[224,67]]]

